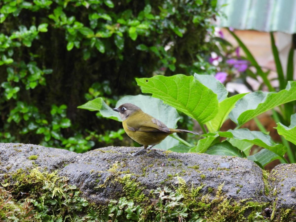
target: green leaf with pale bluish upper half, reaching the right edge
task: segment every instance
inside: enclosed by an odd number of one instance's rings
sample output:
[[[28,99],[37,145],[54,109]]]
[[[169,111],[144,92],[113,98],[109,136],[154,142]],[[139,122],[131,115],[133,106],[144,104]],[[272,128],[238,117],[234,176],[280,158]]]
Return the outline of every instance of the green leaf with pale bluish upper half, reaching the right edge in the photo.
[[[286,89],[278,93],[257,91],[247,94],[237,102],[229,117],[241,126],[255,116],[293,100],[296,100],[296,82],[289,81]]]

